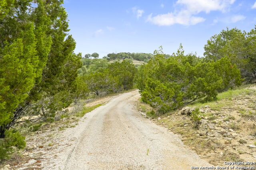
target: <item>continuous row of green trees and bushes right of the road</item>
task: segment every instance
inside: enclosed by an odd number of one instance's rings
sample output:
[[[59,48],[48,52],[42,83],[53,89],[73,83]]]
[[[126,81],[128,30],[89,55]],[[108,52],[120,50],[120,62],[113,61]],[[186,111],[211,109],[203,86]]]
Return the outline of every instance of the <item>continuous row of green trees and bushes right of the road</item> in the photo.
[[[217,92],[255,82],[256,29],[249,33],[239,29],[222,30],[204,46],[205,58],[184,55],[182,46],[166,58],[162,49],[139,68],[137,86],[143,102],[159,113],[184,104],[216,100]]]

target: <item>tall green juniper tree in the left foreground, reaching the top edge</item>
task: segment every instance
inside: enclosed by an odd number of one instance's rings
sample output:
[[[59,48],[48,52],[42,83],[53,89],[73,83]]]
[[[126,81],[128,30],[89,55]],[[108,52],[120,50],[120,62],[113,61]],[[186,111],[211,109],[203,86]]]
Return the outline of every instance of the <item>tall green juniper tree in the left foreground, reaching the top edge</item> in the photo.
[[[36,3],[36,8],[31,8],[31,3]],[[76,43],[68,35],[62,4],[63,0],[1,1],[1,146],[22,115],[41,113],[47,119],[77,98],[81,54],[73,53]]]

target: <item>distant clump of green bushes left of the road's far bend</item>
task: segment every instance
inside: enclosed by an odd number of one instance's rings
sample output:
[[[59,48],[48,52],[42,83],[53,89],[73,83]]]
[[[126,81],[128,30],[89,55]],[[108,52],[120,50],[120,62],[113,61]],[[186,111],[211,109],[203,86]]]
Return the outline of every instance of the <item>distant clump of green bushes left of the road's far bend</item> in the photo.
[[[88,92],[103,96],[134,87],[136,68],[134,64],[126,60],[123,60],[122,63],[108,64],[106,67],[95,66],[95,68],[92,72],[90,70],[79,77],[88,87]]]

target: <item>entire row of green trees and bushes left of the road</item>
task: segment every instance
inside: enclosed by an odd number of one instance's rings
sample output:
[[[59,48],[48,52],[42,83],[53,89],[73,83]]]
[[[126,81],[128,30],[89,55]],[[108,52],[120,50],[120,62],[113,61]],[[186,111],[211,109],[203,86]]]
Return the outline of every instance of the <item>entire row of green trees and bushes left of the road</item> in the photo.
[[[63,0],[0,2],[0,159],[25,147],[15,130],[26,121],[54,121],[72,102],[133,87],[134,65],[113,63],[78,76],[82,54],[68,34]],[[91,55],[98,58],[97,53]]]

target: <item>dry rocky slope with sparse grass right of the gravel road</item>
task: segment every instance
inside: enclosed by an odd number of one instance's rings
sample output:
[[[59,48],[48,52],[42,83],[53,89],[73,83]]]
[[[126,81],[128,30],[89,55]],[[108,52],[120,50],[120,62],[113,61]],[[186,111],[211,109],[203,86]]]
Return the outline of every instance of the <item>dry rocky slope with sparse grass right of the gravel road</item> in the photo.
[[[154,117],[153,121],[180,134],[185,145],[211,164],[223,166],[225,161],[255,162],[256,86],[251,85],[228,96],[232,97],[184,107]],[[140,103],[138,107],[142,112],[150,111],[145,104]],[[196,107],[200,108],[201,118],[198,128],[194,127],[190,117]]]

